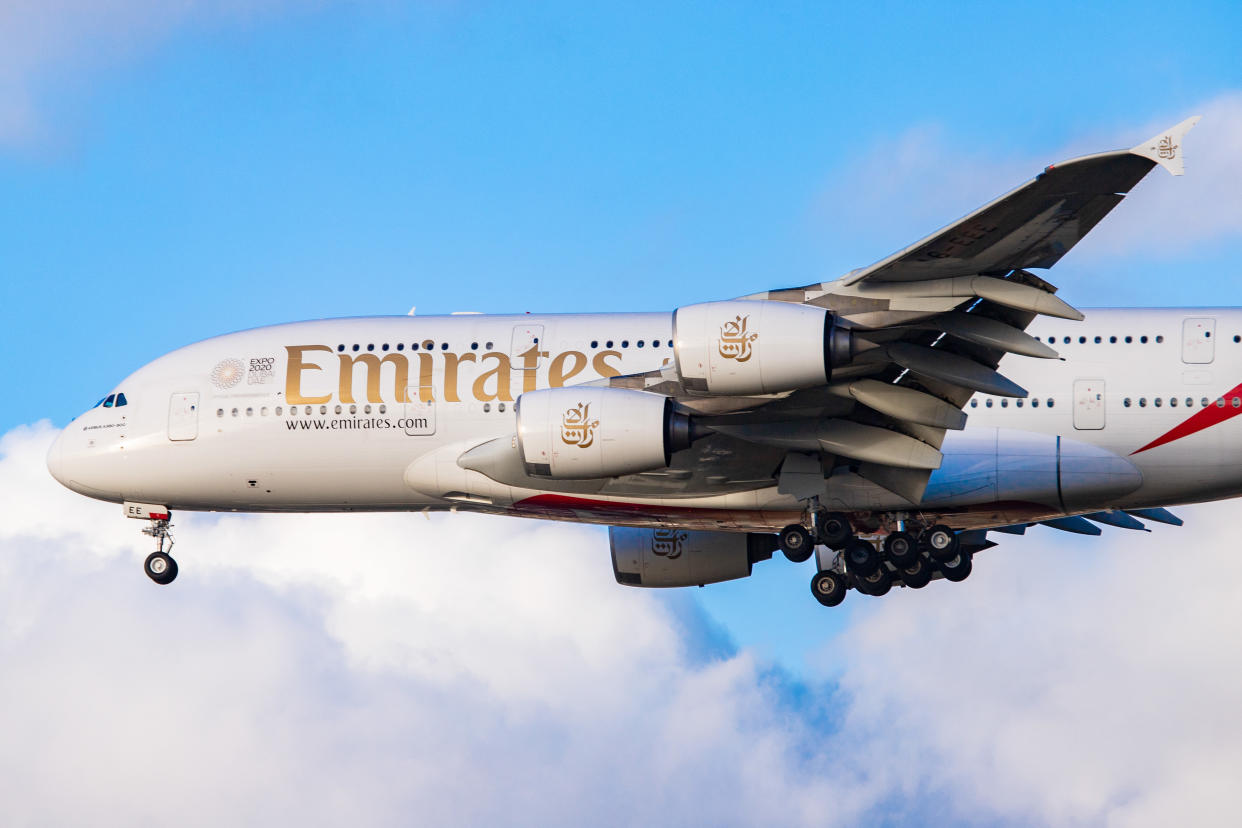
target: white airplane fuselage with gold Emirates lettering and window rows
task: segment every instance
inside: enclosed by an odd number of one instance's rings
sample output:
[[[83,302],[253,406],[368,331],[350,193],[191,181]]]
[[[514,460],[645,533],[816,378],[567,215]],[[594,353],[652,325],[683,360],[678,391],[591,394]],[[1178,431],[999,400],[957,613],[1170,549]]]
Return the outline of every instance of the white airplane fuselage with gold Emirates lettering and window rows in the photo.
[[[1122,502],[1072,510],[1242,494],[1242,309],[1102,309],[1082,323],[1038,318],[1028,333],[1062,359],[1007,356],[1001,370],[1030,397],[976,395],[965,432],[945,441],[946,461],[958,441],[989,430],[1056,434],[1141,473]],[[174,510],[461,508],[710,529],[790,523],[801,506],[775,482],[712,495],[576,497],[502,485],[456,464],[514,433],[523,391],[660,369],[673,359],[672,338],[663,313],[328,319],[240,331],[127,377],[113,390],[127,405],[76,418],[48,466],[82,494]],[[899,508],[874,493],[864,500],[836,505]],[[986,493],[977,505],[986,510]],[[994,509],[975,523],[1010,516]]]

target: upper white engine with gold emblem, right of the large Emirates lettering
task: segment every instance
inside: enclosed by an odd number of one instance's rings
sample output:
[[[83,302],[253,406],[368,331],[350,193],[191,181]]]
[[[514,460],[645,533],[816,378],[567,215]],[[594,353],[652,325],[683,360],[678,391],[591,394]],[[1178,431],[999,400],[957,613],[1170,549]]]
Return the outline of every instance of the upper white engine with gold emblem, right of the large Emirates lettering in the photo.
[[[673,313],[673,354],[689,391],[776,394],[826,384],[853,359],[853,334],[815,305],[707,302]]]

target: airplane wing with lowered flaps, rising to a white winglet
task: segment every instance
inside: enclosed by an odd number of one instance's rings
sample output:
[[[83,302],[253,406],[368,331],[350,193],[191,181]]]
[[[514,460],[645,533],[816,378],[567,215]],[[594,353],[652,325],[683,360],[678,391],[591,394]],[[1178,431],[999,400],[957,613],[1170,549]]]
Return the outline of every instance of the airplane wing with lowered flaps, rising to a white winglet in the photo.
[[[972,395],[1026,396],[996,371],[1001,359],[1057,356],[1025,333],[1031,320],[1037,314],[1083,318],[1030,268],[1056,264],[1156,164],[1181,175],[1182,137],[1197,120],[1130,150],[1051,165],[944,230],[835,282],[744,297],[827,308],[850,328],[856,356],[826,386],[713,397],[688,390],[674,366],[601,384],[672,396],[715,432],[718,448],[723,436],[818,456],[825,474],[856,474],[917,503],[940,464],[945,430],[965,426],[963,406]],[[676,459],[698,462],[686,454]],[[773,474],[782,490],[796,490],[792,475],[782,477],[784,470]]]

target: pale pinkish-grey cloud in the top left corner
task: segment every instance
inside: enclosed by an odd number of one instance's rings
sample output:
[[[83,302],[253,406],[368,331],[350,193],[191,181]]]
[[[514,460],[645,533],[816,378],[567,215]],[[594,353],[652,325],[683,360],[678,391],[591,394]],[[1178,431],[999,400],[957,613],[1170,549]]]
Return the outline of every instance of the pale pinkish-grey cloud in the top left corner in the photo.
[[[12,0],[0,4],[0,144],[43,137],[39,91],[154,47],[193,22],[247,22],[322,0]]]

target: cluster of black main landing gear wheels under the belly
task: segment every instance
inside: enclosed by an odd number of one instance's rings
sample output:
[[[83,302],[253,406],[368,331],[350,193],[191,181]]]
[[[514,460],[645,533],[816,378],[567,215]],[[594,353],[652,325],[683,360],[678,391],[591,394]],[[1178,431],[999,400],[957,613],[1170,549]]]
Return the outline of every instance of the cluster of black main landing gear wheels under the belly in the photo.
[[[944,524],[898,524],[874,542],[854,535],[848,515],[811,506],[810,526],[790,524],[776,540],[795,564],[816,556],[811,595],[826,607],[840,605],[851,588],[878,597],[894,586],[922,590],[938,577],[959,582],[970,576],[974,549]]]

